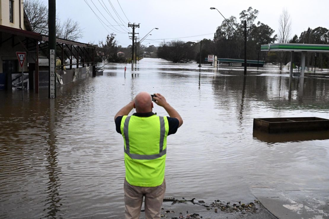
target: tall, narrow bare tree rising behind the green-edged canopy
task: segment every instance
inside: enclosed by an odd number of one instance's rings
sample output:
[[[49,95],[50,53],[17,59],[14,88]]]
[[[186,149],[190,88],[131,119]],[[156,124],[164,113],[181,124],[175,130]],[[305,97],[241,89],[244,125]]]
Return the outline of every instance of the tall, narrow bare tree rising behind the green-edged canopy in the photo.
[[[291,17],[287,9],[282,10],[282,14],[279,17],[279,31],[278,31],[278,42],[288,43],[291,35]],[[282,65],[284,64],[284,52],[280,52],[278,55],[280,70],[282,70]]]

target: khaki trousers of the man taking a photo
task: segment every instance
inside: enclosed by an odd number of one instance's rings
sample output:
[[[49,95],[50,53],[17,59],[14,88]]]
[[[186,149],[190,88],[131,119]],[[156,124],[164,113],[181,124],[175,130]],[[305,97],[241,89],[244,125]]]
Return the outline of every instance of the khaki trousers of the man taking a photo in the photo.
[[[161,205],[165,192],[165,180],[160,186],[141,187],[132,186],[125,179],[123,189],[126,219],[139,218],[143,197],[145,197],[146,219],[160,218]]]

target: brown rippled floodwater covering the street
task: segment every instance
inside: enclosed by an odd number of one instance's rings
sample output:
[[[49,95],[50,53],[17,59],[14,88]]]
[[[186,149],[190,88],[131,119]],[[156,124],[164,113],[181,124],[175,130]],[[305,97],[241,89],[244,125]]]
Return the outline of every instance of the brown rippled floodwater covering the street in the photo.
[[[0,218],[122,218],[114,115],[140,91],[161,93],[184,120],[167,139],[165,196],[253,201],[271,190],[328,203],[329,133],[262,137],[253,118],[329,119],[329,74],[300,81],[267,66],[248,68],[244,79],[241,67],[151,58],[133,72],[104,69],[60,87],[55,100],[46,90],[24,91],[23,101],[21,91],[0,92]],[[156,104],[153,111],[167,115]]]

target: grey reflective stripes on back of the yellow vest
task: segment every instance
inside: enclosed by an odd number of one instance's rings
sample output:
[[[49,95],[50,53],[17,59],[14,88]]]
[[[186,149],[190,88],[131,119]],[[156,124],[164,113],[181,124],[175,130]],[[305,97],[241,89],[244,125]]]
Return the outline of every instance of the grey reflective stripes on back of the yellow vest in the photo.
[[[145,154],[131,154],[129,150],[129,135],[128,135],[128,125],[129,125],[129,120],[130,116],[127,116],[126,120],[124,121],[123,124],[123,133],[124,137],[126,140],[126,148],[124,148],[124,152],[131,157],[132,159],[136,160],[153,160],[157,159],[159,157],[162,157],[163,155],[166,154],[167,148],[163,150],[164,146],[164,135],[165,135],[165,126],[164,126],[164,118],[162,116],[159,116],[160,119],[160,145],[159,145],[159,154],[151,154],[151,155],[145,155]]]

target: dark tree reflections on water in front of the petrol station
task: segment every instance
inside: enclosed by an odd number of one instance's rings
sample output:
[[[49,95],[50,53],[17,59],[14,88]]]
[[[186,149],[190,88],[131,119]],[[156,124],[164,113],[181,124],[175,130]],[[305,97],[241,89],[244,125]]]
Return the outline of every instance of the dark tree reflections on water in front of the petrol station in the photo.
[[[214,75],[212,87],[215,99],[222,107],[230,108],[234,104],[237,110],[241,108],[244,98],[262,102],[262,105],[274,109],[291,109],[296,104],[304,108],[328,108],[329,85],[326,79],[305,77],[302,85],[300,82],[299,77],[290,78],[286,75],[251,75],[247,76],[244,85],[243,76]],[[244,107],[249,104],[250,101],[243,103]]]

